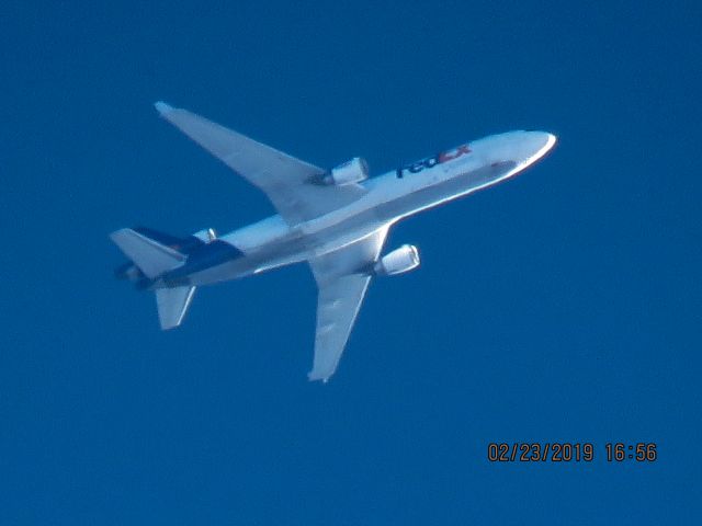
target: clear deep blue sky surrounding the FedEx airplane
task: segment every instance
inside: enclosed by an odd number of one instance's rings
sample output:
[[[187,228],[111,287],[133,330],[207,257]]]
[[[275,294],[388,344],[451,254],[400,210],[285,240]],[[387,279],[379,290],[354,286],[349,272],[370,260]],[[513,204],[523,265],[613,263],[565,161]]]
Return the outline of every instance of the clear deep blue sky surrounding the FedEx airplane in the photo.
[[[0,524],[699,523],[699,2],[12,3]],[[272,211],[159,99],[376,174],[561,141],[393,231],[422,266],[374,283],[322,386],[306,267],[203,289],[170,333],[113,278],[116,228]],[[618,441],[659,458],[607,462]],[[490,464],[490,442],[598,458]]]

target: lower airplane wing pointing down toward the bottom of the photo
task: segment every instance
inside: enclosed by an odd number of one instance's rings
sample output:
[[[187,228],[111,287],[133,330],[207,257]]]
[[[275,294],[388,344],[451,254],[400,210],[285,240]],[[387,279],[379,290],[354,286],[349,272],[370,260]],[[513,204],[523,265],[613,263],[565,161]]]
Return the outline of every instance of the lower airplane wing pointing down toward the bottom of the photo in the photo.
[[[333,375],[371,282],[389,225],[339,250],[309,260],[319,287],[315,359],[308,377],[327,381]]]

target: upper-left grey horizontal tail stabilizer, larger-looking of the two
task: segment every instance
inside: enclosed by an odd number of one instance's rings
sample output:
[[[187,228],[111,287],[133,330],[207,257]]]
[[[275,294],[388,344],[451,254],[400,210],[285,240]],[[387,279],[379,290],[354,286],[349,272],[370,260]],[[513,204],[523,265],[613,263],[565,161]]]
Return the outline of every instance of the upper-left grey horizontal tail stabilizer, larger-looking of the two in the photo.
[[[110,238],[150,279],[185,262],[185,255],[129,228],[112,232]]]

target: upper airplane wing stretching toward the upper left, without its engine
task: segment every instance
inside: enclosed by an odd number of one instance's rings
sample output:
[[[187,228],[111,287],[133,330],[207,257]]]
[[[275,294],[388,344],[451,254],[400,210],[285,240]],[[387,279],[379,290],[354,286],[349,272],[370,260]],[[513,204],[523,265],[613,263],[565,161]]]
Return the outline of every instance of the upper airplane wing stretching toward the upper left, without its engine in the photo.
[[[359,184],[320,185],[310,178],[325,170],[270,146],[165,102],[155,104],[161,116],[220,159],[239,175],[261,188],[290,226],[341,208],[362,195]]]

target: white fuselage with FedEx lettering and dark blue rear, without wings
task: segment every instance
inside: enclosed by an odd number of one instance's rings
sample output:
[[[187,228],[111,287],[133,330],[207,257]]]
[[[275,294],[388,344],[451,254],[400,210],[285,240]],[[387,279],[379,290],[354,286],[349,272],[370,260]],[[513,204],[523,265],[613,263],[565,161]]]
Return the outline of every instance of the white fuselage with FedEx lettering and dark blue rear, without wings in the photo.
[[[314,220],[274,215],[222,236],[231,251],[193,254],[150,288],[208,285],[307,261],[448,201],[499,183],[542,158],[556,138],[543,132],[489,136],[364,181],[367,193]],[[359,268],[359,272],[363,270]]]

